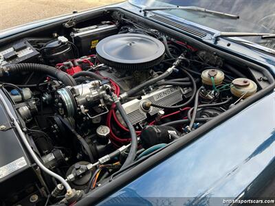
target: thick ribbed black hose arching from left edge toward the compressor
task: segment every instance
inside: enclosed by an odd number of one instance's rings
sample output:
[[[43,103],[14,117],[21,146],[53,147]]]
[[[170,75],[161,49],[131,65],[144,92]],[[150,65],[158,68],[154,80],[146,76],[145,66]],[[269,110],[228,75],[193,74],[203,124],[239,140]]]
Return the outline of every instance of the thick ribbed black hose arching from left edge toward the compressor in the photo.
[[[34,64],[34,63],[21,63],[17,65],[6,66],[9,73],[21,73],[23,71],[45,73],[46,75],[52,76],[57,80],[60,80],[66,86],[76,86],[76,81],[72,76],[65,73],[64,71],[58,70],[48,65]]]

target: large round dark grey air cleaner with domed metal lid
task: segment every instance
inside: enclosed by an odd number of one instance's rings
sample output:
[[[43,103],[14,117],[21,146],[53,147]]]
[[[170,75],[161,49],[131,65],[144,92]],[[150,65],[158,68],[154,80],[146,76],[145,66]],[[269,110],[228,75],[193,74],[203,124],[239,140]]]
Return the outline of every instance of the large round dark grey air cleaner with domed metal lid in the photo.
[[[116,34],[96,45],[97,58],[109,67],[123,70],[148,69],[164,59],[165,47],[144,34]]]

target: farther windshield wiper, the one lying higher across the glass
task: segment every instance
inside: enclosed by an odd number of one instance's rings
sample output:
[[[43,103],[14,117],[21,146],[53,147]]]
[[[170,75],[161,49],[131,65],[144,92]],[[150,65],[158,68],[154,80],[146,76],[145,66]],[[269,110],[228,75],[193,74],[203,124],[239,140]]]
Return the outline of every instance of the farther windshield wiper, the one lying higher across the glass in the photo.
[[[233,14],[227,14],[223,12],[217,12],[213,10],[207,10],[206,8],[201,8],[197,6],[175,6],[175,7],[145,7],[141,11],[144,12],[144,16],[146,16],[147,12],[156,11],[156,10],[190,10],[190,11],[198,11],[198,12],[206,12],[209,14],[225,16],[231,19],[239,19],[240,17]]]

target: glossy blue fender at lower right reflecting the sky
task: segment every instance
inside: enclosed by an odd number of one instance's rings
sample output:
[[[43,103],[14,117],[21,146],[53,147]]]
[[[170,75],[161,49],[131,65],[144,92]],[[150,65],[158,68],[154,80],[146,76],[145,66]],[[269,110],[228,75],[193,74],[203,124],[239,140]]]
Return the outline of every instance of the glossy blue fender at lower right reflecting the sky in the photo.
[[[210,197],[239,196],[274,161],[274,114],[275,93],[272,93],[149,170],[100,205],[118,203],[121,197],[126,205],[133,202],[142,205],[145,200],[155,205],[162,198],[168,198],[172,205],[183,205],[183,201],[192,205],[212,205],[213,201],[221,201]]]

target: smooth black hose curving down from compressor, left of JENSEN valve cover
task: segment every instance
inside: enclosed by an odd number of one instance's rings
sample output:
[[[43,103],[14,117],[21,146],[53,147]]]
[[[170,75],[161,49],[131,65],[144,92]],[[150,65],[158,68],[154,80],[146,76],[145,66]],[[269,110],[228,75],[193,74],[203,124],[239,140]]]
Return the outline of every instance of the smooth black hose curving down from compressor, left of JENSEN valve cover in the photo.
[[[137,153],[137,135],[135,133],[135,128],[133,128],[133,125],[132,125],[128,115],[124,111],[124,108],[122,107],[120,101],[116,101],[115,106],[118,109],[118,111],[120,112],[120,115],[121,115],[122,119],[124,120],[126,126],[128,127],[130,136],[131,136],[131,147],[130,147],[129,154],[128,154],[124,164],[120,168],[120,170],[122,170],[126,166],[133,163],[133,161],[135,160],[135,156]]]

